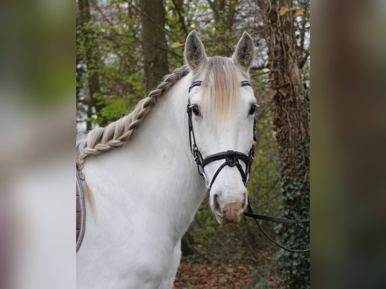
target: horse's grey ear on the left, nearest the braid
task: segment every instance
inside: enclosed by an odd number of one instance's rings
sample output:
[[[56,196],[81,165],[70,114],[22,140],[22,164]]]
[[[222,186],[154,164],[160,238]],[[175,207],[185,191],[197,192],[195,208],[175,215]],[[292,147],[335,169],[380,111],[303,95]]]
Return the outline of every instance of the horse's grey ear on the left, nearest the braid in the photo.
[[[186,64],[189,65],[192,71],[200,68],[204,61],[208,59],[204,45],[196,30],[191,31],[186,37],[184,54]]]

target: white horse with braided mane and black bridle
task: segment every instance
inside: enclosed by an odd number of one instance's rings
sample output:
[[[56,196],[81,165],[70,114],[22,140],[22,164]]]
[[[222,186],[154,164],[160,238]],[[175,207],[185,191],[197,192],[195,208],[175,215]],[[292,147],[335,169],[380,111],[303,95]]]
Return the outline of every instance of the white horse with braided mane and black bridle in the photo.
[[[208,57],[192,31],[184,55],[187,66],[131,114],[77,144],[87,196],[78,288],[170,289],[205,193],[220,224],[239,222],[247,206],[253,40],[244,33],[231,58]]]

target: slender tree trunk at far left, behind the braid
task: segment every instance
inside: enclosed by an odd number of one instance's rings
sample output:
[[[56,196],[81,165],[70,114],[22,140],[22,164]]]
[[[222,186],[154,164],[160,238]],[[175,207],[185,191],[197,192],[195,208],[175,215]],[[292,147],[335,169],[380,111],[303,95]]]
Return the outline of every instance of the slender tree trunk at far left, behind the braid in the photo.
[[[83,37],[85,38],[85,63],[87,66],[87,80],[88,80],[88,89],[90,94],[90,101],[87,108],[87,131],[91,130],[91,117],[92,117],[92,107],[95,108],[96,112],[100,112],[103,108],[102,105],[98,104],[96,96],[100,94],[100,83],[99,83],[99,73],[98,73],[98,60],[99,52],[95,44],[94,31],[89,27],[91,15],[90,15],[90,5],[89,0],[79,0],[78,1],[79,14],[80,14],[80,25],[82,26]],[[101,119],[101,125],[107,124],[107,120],[102,116],[98,116]]]

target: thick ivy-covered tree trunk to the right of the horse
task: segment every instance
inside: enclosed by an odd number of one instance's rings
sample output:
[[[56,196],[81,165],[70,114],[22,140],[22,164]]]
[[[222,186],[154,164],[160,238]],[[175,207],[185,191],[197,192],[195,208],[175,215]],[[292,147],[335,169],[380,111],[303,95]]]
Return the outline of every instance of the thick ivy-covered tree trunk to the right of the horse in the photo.
[[[258,1],[266,26],[270,69],[270,96],[274,102],[273,125],[281,163],[283,214],[309,218],[309,97],[301,79],[296,54],[294,11],[291,0]],[[283,10],[282,10],[283,11]],[[306,249],[309,228],[279,226],[285,246]],[[280,252],[279,273],[286,288],[309,287],[309,253]]]

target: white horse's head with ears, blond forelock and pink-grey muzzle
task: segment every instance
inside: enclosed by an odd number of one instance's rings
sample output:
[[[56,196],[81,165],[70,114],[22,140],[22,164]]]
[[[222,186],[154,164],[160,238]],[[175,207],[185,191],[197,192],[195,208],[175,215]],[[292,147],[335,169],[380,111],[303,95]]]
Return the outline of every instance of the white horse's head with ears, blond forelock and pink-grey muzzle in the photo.
[[[208,57],[196,31],[185,42],[192,71],[188,118],[190,148],[219,224],[238,223],[248,198],[256,99],[249,84],[253,40],[244,33],[232,57]]]

